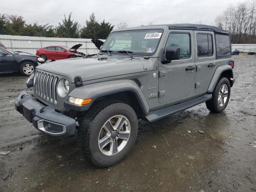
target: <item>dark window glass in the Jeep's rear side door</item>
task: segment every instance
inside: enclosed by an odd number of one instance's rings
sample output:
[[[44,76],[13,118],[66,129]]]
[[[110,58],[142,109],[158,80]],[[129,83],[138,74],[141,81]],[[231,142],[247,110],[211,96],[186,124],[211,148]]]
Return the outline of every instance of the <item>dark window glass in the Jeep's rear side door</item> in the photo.
[[[212,56],[212,35],[197,34],[196,42],[198,57]]]

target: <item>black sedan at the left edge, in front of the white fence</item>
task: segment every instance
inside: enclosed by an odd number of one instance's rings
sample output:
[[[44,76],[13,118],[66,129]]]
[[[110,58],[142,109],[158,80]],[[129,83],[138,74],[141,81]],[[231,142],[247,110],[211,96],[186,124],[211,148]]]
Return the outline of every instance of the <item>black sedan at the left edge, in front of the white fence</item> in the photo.
[[[0,48],[0,73],[20,72],[29,76],[34,72],[35,67],[42,63],[44,60],[36,55]]]

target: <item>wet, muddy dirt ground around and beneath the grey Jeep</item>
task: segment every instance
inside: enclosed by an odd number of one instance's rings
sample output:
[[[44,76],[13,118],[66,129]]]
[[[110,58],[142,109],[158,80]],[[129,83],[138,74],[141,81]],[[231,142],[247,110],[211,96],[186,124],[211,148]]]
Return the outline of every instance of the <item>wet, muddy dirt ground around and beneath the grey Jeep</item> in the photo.
[[[60,140],[33,128],[14,108],[26,77],[0,76],[1,192],[256,192],[256,56],[233,56],[236,82],[220,114],[205,104],[154,123],[140,121],[122,162],[98,168],[76,136]],[[198,130],[203,130],[200,134]]]

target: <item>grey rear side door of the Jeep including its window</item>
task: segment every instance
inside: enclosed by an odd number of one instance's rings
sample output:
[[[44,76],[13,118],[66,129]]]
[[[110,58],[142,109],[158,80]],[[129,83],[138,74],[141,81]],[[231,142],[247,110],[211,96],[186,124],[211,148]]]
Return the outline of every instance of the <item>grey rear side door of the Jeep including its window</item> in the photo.
[[[194,31],[196,76],[195,93],[206,92],[216,69],[214,32]]]

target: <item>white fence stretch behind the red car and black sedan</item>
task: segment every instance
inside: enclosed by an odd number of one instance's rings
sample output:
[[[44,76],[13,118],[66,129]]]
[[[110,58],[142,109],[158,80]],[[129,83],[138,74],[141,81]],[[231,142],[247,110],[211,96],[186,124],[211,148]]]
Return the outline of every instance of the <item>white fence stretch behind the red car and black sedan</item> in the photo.
[[[31,54],[36,54],[37,49],[50,45],[72,47],[79,43],[83,45],[78,51],[84,54],[95,54],[98,52],[91,39],[0,35],[0,42],[11,51],[23,51]]]

